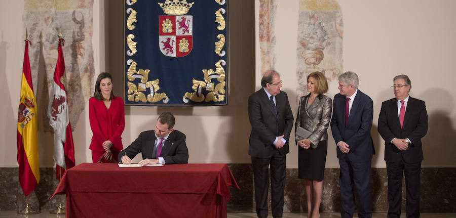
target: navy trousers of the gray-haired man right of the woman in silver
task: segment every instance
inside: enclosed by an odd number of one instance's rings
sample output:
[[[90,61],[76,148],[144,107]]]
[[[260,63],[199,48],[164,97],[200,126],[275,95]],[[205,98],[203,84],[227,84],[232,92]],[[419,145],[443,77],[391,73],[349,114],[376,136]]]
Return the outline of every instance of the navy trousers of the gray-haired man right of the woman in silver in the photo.
[[[372,195],[370,188],[371,160],[351,161],[347,156],[339,158],[340,175],[340,217],[352,218],[355,211],[353,185],[359,198],[358,217],[372,217]]]

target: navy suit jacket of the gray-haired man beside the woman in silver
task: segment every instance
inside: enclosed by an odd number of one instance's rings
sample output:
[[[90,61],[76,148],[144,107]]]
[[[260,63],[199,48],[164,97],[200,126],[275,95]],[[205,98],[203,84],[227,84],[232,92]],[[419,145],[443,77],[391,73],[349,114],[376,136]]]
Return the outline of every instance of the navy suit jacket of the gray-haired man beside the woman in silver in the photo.
[[[353,162],[364,162],[372,158],[375,148],[370,136],[373,118],[373,101],[358,90],[353,100],[347,126],[345,126],[345,103],[347,97],[337,94],[334,96],[332,109],[331,130],[335,143],[346,142],[350,147],[349,153],[342,153],[337,147],[338,158],[348,158]]]

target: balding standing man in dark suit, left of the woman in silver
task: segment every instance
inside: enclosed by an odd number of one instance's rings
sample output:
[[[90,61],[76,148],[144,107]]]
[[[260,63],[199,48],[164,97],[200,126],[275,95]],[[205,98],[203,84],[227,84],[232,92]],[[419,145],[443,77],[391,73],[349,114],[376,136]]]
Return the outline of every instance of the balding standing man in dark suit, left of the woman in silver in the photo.
[[[249,97],[248,113],[252,131],[249,155],[252,158],[256,214],[268,216],[268,189],[271,166],[271,207],[273,217],[282,217],[285,191],[285,157],[293,127],[288,96],[281,92],[282,80],[274,70],[261,78],[262,88]]]

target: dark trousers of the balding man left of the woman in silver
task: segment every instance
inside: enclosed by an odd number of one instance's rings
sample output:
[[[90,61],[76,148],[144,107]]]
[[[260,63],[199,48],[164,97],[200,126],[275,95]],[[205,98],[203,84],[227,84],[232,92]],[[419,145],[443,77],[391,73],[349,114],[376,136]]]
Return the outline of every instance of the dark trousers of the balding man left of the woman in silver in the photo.
[[[252,157],[255,204],[258,216],[268,216],[268,189],[271,165],[271,209],[274,217],[282,217],[285,191],[286,155],[278,150],[270,158]]]

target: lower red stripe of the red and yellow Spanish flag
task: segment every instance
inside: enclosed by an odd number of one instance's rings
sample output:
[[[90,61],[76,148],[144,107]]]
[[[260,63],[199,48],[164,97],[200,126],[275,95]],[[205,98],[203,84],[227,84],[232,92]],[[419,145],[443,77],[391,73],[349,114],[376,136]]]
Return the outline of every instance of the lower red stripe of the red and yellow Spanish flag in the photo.
[[[19,131],[17,131],[17,162],[22,163],[19,164],[19,183],[24,195],[27,197],[38,186],[38,183],[36,183],[35,175],[33,175],[30,164],[28,164],[24,144],[22,143],[22,135]]]

